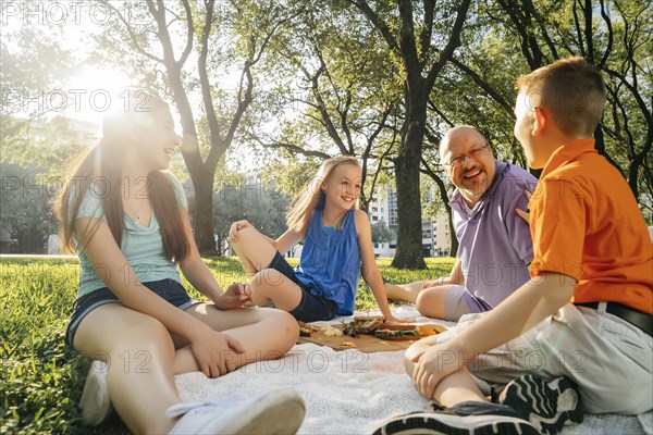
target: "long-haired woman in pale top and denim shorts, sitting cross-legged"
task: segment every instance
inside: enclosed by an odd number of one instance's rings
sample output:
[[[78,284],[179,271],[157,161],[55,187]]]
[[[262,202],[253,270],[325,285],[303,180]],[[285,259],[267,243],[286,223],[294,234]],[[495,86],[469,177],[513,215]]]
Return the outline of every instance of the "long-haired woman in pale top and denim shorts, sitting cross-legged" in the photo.
[[[283,311],[242,308],[247,286],[222,290],[195,245],[182,185],[167,171],[181,144],[168,104],[143,89],[121,96],[57,204],[63,241],[81,262],[66,339],[95,360],[85,420],[99,424],[112,405],[134,433],[295,432],[305,407],[292,389],[180,403],[175,374],[217,377],[279,358],[298,328]],[[177,266],[210,302],[189,298]]]

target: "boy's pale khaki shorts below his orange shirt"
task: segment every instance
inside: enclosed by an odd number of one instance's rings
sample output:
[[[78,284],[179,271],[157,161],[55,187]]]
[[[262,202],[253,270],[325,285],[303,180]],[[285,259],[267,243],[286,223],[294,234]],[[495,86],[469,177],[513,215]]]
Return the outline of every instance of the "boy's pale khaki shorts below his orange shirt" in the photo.
[[[445,341],[484,313],[466,314],[442,334]],[[527,373],[578,384],[591,413],[638,414],[653,409],[653,338],[605,312],[571,303],[505,345],[480,355],[469,371],[491,384],[507,384]]]

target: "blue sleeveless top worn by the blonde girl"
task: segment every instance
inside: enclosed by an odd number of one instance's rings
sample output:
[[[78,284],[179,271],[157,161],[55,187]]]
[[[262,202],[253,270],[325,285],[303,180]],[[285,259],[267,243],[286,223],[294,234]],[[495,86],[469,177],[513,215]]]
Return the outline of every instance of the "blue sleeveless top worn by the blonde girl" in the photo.
[[[337,304],[337,315],[352,315],[360,278],[360,249],[354,221],[347,212],[343,228],[322,226],[322,209],[316,209],[304,240],[301,259],[295,275],[312,295]]]

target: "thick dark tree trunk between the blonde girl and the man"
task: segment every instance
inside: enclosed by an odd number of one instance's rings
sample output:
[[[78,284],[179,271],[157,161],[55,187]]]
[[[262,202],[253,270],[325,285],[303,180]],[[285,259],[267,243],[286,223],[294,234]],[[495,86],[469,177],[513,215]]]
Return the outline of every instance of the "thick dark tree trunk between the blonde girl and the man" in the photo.
[[[395,159],[397,187],[397,250],[392,266],[426,269],[422,253],[419,167],[427,122],[428,92],[412,89],[408,95],[403,144]]]

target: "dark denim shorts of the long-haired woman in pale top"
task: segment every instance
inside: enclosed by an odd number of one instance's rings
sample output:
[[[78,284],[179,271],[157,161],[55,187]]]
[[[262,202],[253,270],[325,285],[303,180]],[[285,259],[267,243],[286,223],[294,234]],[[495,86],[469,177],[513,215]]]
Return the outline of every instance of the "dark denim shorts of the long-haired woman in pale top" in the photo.
[[[152,281],[143,283],[143,285],[180,310],[185,311],[192,306],[200,303],[197,300],[190,299],[190,296],[188,296],[184,286],[174,279],[167,278]],[[73,314],[71,315],[71,321],[65,331],[65,340],[71,347],[73,347],[75,333],[84,318],[96,308],[107,303],[121,303],[118,296],[115,296],[108,287],[98,288],[75,300],[75,303],[73,304]]]

